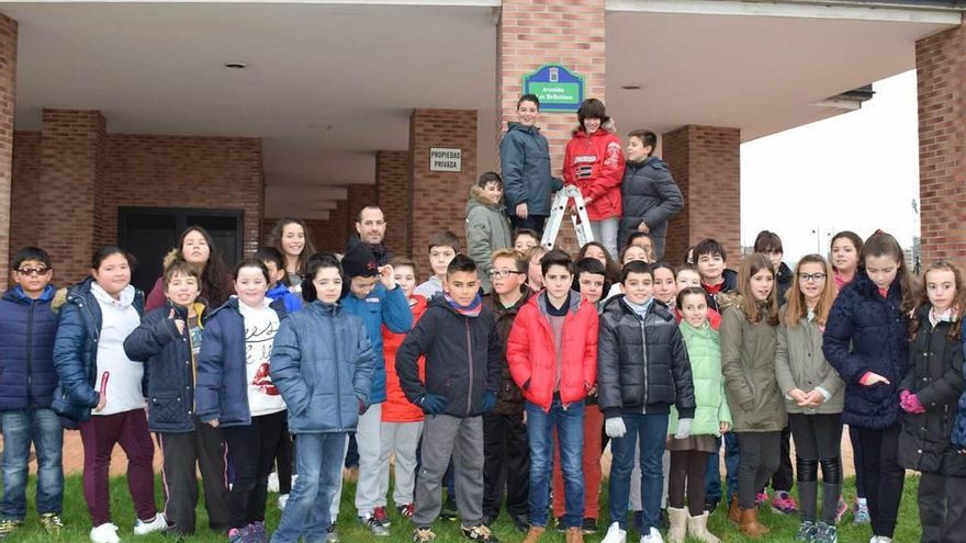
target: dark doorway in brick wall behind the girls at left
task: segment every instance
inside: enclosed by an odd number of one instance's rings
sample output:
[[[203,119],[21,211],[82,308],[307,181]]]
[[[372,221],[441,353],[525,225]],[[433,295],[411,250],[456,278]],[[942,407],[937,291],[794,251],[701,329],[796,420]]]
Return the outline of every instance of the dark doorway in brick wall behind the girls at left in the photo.
[[[145,291],[154,286],[164,271],[165,254],[189,226],[201,226],[233,268],[242,259],[242,210],[199,210],[182,207],[121,207],[117,210],[117,245],[137,259],[131,283]]]

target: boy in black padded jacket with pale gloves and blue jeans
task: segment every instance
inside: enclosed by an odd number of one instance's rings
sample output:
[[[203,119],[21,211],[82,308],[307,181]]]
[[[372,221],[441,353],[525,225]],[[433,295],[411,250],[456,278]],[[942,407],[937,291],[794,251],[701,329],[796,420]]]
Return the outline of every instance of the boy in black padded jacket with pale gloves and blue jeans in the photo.
[[[674,316],[655,304],[654,276],[641,261],[624,267],[624,295],[611,298],[600,315],[597,343],[597,397],[611,441],[609,536],[627,531],[627,505],[634,446],[640,442],[642,543],[663,541],[658,530],[663,475],[661,457],[671,405],[679,414],[677,439],[690,434],[695,412],[694,382],[684,339]],[[611,535],[611,532],[616,532]]]

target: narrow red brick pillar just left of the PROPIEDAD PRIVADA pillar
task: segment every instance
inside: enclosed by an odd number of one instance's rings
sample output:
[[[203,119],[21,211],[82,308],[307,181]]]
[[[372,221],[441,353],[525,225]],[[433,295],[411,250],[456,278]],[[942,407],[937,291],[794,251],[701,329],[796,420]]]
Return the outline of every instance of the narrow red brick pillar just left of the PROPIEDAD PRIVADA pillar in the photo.
[[[375,154],[375,195],[385,222],[385,245],[397,257],[411,257],[409,239],[409,151],[381,150]]]

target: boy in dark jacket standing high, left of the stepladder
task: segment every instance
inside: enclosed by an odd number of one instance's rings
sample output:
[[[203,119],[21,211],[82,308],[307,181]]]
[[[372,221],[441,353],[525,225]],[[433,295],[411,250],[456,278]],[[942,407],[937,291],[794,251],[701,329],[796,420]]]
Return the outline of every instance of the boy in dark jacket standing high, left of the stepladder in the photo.
[[[540,134],[540,100],[524,94],[517,101],[519,123],[507,123],[499,142],[499,168],[506,213],[514,229],[528,228],[543,234],[550,215],[550,193],[563,181],[550,174],[550,145]]]

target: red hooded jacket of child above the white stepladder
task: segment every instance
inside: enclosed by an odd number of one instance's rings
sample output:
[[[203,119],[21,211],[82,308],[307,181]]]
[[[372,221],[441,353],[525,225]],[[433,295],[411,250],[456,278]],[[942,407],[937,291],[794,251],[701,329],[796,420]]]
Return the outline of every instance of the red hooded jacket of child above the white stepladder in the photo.
[[[587,205],[591,220],[620,217],[624,163],[620,138],[603,126],[593,134],[577,128],[566,143],[563,180],[576,185],[584,199],[593,199]]]

